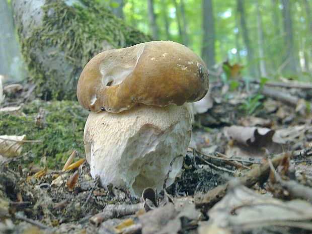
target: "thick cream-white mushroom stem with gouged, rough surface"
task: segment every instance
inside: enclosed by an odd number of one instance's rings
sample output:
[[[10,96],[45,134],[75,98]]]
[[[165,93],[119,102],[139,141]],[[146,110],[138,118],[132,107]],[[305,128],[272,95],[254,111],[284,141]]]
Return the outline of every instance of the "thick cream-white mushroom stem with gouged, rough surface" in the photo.
[[[192,133],[189,104],[141,105],[120,113],[90,113],[85,126],[86,158],[103,186],[127,187],[140,196],[145,187],[162,190],[169,165],[185,155]],[[177,158],[167,181],[179,173]]]

